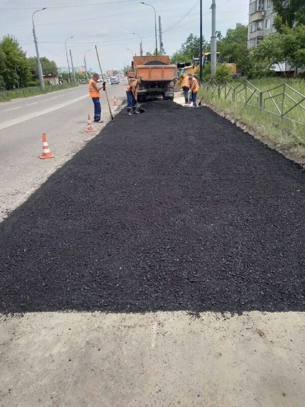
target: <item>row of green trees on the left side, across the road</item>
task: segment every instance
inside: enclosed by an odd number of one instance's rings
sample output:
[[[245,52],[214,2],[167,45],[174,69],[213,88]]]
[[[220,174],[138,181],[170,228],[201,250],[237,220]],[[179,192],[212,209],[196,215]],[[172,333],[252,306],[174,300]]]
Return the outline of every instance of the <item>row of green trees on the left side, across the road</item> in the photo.
[[[57,66],[45,56],[40,58],[44,75],[56,75]],[[0,91],[39,85],[37,57],[26,57],[15,37],[6,35],[0,41]]]

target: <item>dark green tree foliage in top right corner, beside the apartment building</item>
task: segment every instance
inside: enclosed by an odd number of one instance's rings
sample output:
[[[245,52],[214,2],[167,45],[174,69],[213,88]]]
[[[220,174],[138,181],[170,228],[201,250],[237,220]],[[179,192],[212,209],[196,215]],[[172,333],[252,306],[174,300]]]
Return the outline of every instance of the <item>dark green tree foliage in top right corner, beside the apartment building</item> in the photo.
[[[305,24],[305,3],[304,0],[272,0],[273,10],[275,10],[281,20],[275,20],[275,27],[280,31],[282,23],[288,24],[290,28],[296,25]]]

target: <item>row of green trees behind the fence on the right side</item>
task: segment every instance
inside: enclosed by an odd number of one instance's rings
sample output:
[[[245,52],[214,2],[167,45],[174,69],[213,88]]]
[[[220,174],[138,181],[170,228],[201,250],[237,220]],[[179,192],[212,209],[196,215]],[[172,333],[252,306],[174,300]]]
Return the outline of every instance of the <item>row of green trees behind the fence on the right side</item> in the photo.
[[[274,25],[277,32],[260,41],[256,47],[248,48],[248,26],[237,23],[226,35],[217,32],[217,51],[223,63],[234,63],[238,72],[248,78],[274,74],[275,64],[282,63],[291,69],[305,67],[305,2],[304,0],[272,0],[273,10],[278,15]],[[210,44],[202,37],[203,52],[210,52]],[[199,57],[200,37],[190,34],[180,48],[171,55],[171,62],[190,63]],[[204,69],[203,76],[209,75]],[[295,69],[295,72],[297,70]],[[289,69],[282,71],[288,75]]]

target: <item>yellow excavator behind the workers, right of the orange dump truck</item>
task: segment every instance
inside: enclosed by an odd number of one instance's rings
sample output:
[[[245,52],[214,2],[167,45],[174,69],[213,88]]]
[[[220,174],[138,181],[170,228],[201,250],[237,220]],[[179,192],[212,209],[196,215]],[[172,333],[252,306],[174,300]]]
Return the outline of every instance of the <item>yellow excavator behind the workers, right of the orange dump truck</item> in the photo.
[[[220,52],[216,53],[216,58],[217,61],[221,59]],[[211,53],[210,52],[204,52],[203,53],[203,65],[209,64],[211,62]],[[193,58],[192,59],[192,64],[179,64],[178,63],[178,80],[175,84],[175,91],[179,90],[179,86],[181,88],[181,84],[184,80],[184,78],[190,73],[196,77],[196,79],[199,81],[199,71],[200,71],[200,59],[199,58]],[[236,64],[223,64],[219,63],[218,65],[225,65],[231,69],[232,72],[232,78],[238,78],[240,76],[239,73],[237,73],[236,69]]]

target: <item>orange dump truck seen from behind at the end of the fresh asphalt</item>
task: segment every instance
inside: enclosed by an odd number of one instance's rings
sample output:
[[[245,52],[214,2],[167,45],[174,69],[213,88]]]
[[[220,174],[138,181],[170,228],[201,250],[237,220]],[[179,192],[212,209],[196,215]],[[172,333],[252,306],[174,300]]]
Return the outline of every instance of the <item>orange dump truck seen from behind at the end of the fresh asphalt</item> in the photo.
[[[163,100],[174,99],[174,86],[177,79],[177,64],[170,64],[168,55],[134,56],[132,69],[128,71],[128,81],[141,76],[138,102],[147,97],[162,96]]]

